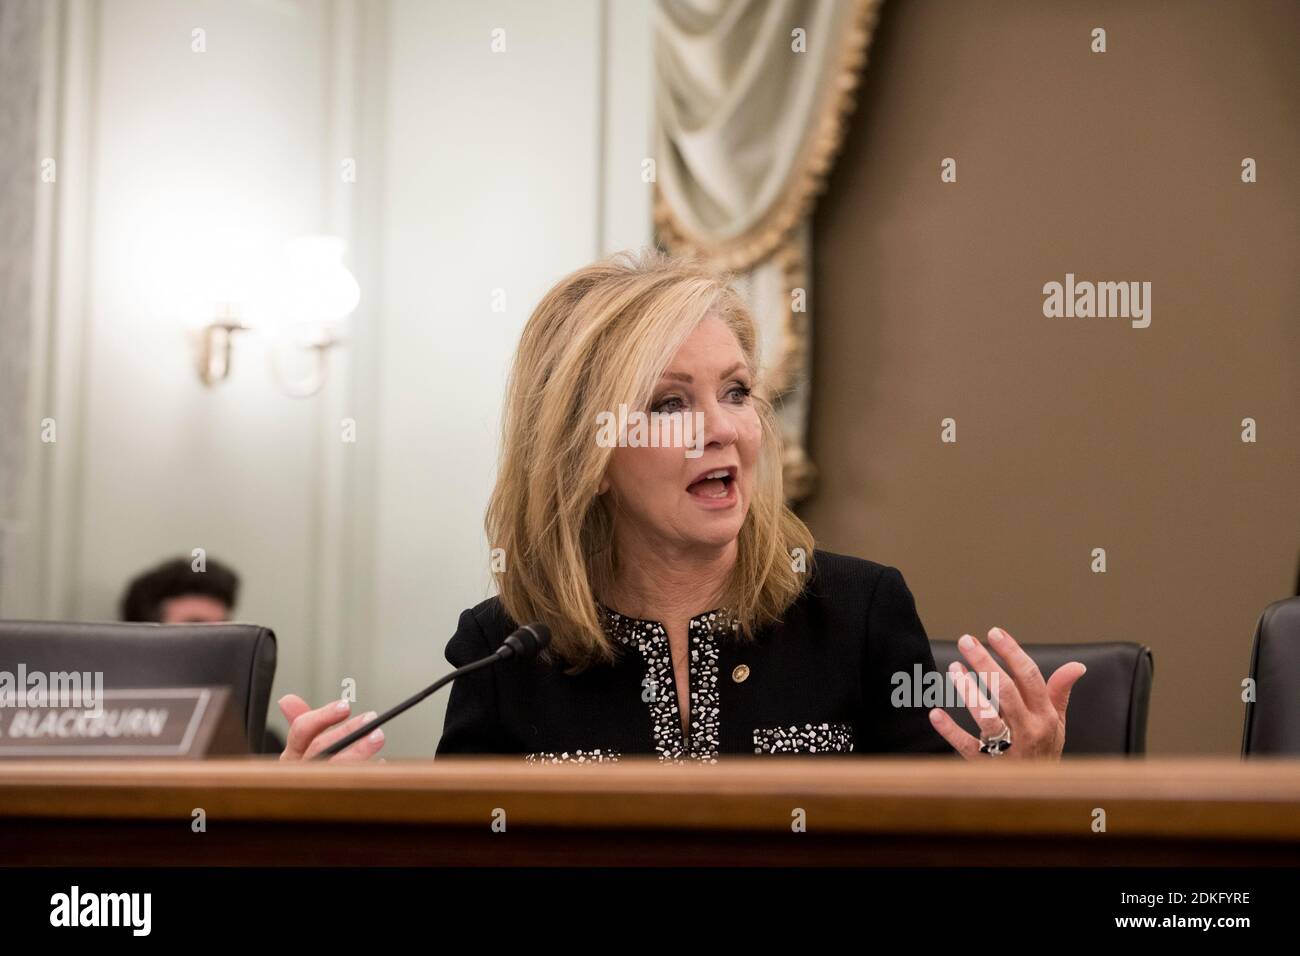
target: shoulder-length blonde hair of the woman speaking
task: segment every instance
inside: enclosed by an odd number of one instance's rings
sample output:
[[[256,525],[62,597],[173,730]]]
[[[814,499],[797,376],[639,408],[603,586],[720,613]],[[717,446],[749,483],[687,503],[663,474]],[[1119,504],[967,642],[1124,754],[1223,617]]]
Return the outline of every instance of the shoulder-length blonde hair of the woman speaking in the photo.
[[[614,658],[597,604],[618,575],[612,519],[597,496],[614,449],[597,442],[597,414],[646,410],[672,356],[708,316],[727,323],[757,376],[758,329],[728,280],[654,250],[566,276],[524,326],[485,525],[489,546],[504,554],[497,580],[507,614],[546,623],[554,654],[575,670]],[[760,382],[753,394],[762,449],[724,596],[746,639],[798,597],[806,574],[792,554],[812,559],[812,535],[785,505],[780,432]]]

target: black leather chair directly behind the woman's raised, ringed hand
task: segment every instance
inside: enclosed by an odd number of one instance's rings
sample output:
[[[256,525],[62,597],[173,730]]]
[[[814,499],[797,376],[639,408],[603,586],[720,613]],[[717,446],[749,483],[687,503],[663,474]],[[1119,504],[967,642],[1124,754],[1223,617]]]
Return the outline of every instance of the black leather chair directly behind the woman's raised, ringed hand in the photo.
[[[946,674],[948,665],[966,658],[957,641],[931,641],[935,666]],[[988,644],[984,643],[987,648]],[[1070,692],[1066,711],[1065,756],[1084,753],[1138,754],[1147,752],[1147,709],[1154,674],[1150,648],[1141,644],[1022,644],[1043,671],[1044,680],[1063,663],[1079,661],[1088,672]],[[996,657],[996,656],[994,656]],[[979,736],[975,718],[958,700],[944,708],[968,734]],[[1011,741],[1015,745],[1015,741]]]

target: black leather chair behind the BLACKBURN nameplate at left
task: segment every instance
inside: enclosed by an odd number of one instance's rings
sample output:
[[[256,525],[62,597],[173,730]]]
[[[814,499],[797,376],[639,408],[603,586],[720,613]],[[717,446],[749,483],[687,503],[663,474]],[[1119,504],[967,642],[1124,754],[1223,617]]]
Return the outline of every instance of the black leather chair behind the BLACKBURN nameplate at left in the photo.
[[[263,750],[276,635],[257,624],[0,620],[0,670],[103,671],[104,689],[229,687],[251,753]]]

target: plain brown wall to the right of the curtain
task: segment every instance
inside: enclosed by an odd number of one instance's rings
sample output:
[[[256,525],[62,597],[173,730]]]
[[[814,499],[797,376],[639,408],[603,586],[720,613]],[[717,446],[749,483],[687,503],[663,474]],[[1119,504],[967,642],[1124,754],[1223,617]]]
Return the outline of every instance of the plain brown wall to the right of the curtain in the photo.
[[[1150,645],[1153,753],[1238,750],[1295,593],[1297,36],[1288,1],[890,0],[816,213],[822,546],[935,639]],[[1044,317],[1067,272],[1150,281],[1150,326]]]

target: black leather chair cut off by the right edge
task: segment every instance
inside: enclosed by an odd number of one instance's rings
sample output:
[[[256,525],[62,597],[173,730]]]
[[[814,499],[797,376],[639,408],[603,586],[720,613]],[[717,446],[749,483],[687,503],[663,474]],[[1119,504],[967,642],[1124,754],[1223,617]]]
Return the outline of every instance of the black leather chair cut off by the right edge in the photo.
[[[1242,756],[1300,754],[1300,597],[1264,609],[1251,676],[1254,700],[1245,705]]]

